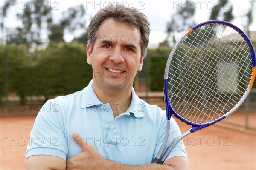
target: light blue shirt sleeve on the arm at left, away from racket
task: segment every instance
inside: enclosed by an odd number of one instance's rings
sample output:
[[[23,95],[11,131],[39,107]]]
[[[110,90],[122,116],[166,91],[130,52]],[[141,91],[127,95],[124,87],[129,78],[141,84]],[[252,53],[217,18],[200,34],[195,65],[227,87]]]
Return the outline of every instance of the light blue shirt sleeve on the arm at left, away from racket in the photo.
[[[49,100],[43,105],[30,133],[26,159],[32,155],[50,155],[66,161],[65,119],[58,99]]]

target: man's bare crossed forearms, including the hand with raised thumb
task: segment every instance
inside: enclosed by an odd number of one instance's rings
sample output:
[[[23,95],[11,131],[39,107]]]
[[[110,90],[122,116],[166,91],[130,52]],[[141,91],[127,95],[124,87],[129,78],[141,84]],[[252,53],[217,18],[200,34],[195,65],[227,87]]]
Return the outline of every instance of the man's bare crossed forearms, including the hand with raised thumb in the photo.
[[[65,162],[56,156],[34,155],[29,156],[26,160],[26,169],[48,169],[48,170],[188,170],[189,164],[186,158],[182,156],[168,159],[163,165],[147,164],[143,166],[128,166],[118,164],[113,161],[104,159],[100,153],[90,144],[85,142],[77,133],[72,135],[74,141],[82,148],[81,152],[71,157]]]

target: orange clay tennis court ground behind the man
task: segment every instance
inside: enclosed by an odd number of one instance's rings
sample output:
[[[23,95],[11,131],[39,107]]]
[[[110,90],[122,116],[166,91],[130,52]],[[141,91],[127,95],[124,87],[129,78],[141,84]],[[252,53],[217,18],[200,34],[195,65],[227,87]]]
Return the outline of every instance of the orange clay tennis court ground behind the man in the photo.
[[[249,114],[249,130],[234,130],[229,123],[212,125],[187,136],[189,164],[192,170],[255,170],[256,134],[255,112]],[[242,119],[242,113],[234,113],[227,120]],[[25,169],[25,152],[35,116],[0,118],[0,169]],[[243,121],[243,120],[242,120]],[[190,127],[177,121],[181,131]],[[221,123],[221,122],[219,122]]]

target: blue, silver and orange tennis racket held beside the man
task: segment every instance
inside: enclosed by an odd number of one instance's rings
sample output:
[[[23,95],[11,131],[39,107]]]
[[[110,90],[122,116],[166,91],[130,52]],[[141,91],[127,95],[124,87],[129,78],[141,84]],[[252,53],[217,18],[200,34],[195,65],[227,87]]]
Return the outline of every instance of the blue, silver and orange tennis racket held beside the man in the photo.
[[[255,79],[253,45],[241,29],[212,20],[194,26],[177,41],[166,64],[166,136],[152,163],[163,164],[181,139],[236,111]],[[192,128],[163,150],[174,115]]]

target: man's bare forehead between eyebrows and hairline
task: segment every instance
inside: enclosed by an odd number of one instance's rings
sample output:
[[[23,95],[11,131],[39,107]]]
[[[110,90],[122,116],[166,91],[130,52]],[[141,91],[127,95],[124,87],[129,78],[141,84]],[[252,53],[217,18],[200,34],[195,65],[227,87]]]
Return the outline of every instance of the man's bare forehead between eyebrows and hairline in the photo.
[[[127,23],[108,18],[99,26],[97,40],[108,40],[115,43],[134,43],[140,45],[140,30]]]

